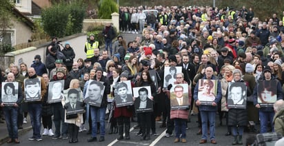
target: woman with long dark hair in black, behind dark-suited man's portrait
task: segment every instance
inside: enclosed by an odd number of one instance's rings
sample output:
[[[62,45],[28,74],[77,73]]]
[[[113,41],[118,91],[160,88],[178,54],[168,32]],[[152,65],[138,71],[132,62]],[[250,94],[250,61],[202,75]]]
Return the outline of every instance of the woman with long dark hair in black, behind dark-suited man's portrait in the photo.
[[[151,87],[151,99],[153,101],[154,96],[156,95],[156,87],[151,79],[151,76],[148,71],[143,70],[141,72],[141,79],[136,82],[136,87],[145,87],[150,86]],[[154,105],[154,104],[153,104]],[[141,140],[150,140],[150,128],[152,129],[152,134],[156,134],[156,122],[154,118],[153,112],[143,112],[138,113],[137,116],[139,116],[139,125],[141,126]]]

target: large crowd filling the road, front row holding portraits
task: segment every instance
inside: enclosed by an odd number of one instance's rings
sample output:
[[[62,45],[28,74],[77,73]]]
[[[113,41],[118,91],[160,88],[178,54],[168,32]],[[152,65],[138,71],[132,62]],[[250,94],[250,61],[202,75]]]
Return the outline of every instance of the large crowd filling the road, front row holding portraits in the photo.
[[[260,20],[252,8],[245,6],[240,9],[120,7],[119,31],[137,36],[129,42],[117,36],[112,43],[116,33],[107,23],[102,30],[105,48],[100,49],[101,44],[90,34],[85,42],[86,58],[77,61],[74,58],[78,49],[73,49],[68,42],[59,46],[57,37],[53,37],[46,48],[45,63],[36,55],[31,65],[11,64],[3,71],[1,81],[19,83],[19,90],[15,90],[18,98],[12,106],[3,99],[0,101],[10,137],[7,143],[19,143],[17,129],[27,123],[27,113],[33,130],[29,140],[38,141],[42,140],[41,135],[48,135],[54,140],[63,138],[77,143],[78,132],[86,131],[83,125],[88,123],[88,134],[91,134],[88,142],[97,141],[97,135],[101,142],[107,130],[105,121],[111,123],[108,134],[118,133],[117,140],[129,140],[130,122],[136,117],[138,125],[134,128],[140,129],[136,136],[141,136],[141,140],[158,135],[155,121],[162,121],[158,127],[167,128],[165,138],[170,138],[174,131],[174,143],[186,143],[185,130],[190,116],[195,114],[199,123],[196,134],[201,135],[201,144],[207,140],[217,143],[216,115],[218,124],[227,127],[225,136],[234,137],[232,145],[243,145],[243,132],[257,133],[253,125],[258,123],[260,133],[275,131],[284,135],[284,15],[280,19],[277,14]],[[166,68],[169,74],[165,74]],[[61,80],[63,90],[79,88],[78,92],[70,93],[70,98],[79,94],[84,98],[77,105],[84,107],[85,113],[71,117],[73,120],[69,116],[66,119],[65,113],[71,105],[48,102],[49,83]],[[131,87],[117,85],[121,81],[131,81]],[[181,84],[187,84],[188,91]],[[27,100],[28,85],[40,87],[39,101]],[[133,93],[133,104],[117,103],[117,106],[115,98],[129,96],[133,87],[141,87],[135,90],[138,97]],[[170,92],[173,89],[174,95]],[[7,96],[8,91],[4,91]],[[187,96],[179,94],[185,91]],[[181,102],[188,106],[172,108],[172,96],[183,98]],[[183,104],[176,101],[176,106],[179,105]],[[105,115],[106,110],[112,112]],[[41,118],[43,134],[40,133]]]

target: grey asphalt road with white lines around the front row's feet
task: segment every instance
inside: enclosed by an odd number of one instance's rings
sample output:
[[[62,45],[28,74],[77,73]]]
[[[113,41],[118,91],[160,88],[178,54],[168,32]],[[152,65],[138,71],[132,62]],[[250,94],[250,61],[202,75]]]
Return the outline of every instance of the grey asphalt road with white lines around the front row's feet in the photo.
[[[188,123],[188,126],[190,129],[187,129],[187,136],[186,140],[187,143],[179,143],[179,145],[199,145],[199,140],[201,136],[197,136],[196,132],[198,132],[198,127],[196,121],[197,116],[192,116],[192,122]],[[218,118],[216,118],[217,120]],[[216,122],[219,123],[218,121]],[[225,123],[225,119],[223,119],[223,123]],[[72,145],[117,145],[117,146],[128,146],[128,145],[178,145],[177,143],[173,143],[174,136],[170,138],[165,138],[165,128],[159,128],[159,125],[161,122],[156,122],[156,132],[160,134],[159,136],[151,136],[151,140],[148,141],[141,141],[139,136],[135,136],[135,134],[138,132],[138,129],[131,129],[130,132],[130,140],[116,140],[117,134],[105,134],[105,142],[93,142],[88,143],[87,139],[90,137],[90,135],[87,135],[86,132],[79,133],[79,143],[72,144]],[[131,123],[132,127],[136,125],[136,123]],[[88,126],[87,126],[88,127]],[[54,129],[54,128],[53,128]],[[43,129],[41,129],[43,131]],[[108,131],[108,130],[106,130]],[[232,143],[232,136],[224,136],[225,132],[227,132],[227,127],[225,126],[216,126],[216,140],[217,145],[231,145]],[[52,140],[52,137],[50,136],[43,136],[43,140],[38,141],[30,141],[28,138],[32,136],[32,130],[29,132],[26,132],[22,136],[19,137],[19,140],[21,141],[21,145],[41,145],[41,146],[62,146],[62,145],[68,145],[68,140]],[[248,136],[247,133],[244,135],[244,141],[245,138]],[[11,145],[11,144],[4,144],[4,145]],[[13,144],[12,144],[13,145]],[[206,143],[205,145],[212,145],[210,143]]]

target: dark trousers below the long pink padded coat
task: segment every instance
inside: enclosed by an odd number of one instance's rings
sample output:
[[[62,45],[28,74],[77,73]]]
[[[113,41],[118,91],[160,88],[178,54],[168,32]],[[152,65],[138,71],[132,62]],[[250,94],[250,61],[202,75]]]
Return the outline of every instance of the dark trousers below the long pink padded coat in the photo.
[[[174,131],[176,132],[176,138],[185,138],[186,136],[186,121],[181,118],[174,118]]]

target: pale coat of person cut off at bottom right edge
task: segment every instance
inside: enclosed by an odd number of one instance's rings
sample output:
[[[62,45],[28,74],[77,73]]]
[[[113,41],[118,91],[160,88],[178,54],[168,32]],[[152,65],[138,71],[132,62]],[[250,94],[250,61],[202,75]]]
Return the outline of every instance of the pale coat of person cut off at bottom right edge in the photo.
[[[284,135],[284,109],[276,112],[273,123],[275,132]]]

